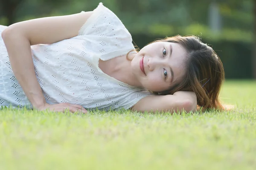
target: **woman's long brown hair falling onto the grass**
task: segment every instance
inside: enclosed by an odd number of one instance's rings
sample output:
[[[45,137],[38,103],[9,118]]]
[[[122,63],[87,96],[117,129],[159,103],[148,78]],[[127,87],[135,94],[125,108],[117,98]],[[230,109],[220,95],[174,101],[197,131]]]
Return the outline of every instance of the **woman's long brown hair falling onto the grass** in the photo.
[[[169,90],[154,93],[168,95],[177,91],[193,91],[197,96],[198,106],[203,109],[224,109],[219,101],[219,93],[224,81],[224,68],[215,51],[196,36],[177,35],[154,42],[159,41],[179,43],[183,46],[187,54],[186,74],[183,81]]]

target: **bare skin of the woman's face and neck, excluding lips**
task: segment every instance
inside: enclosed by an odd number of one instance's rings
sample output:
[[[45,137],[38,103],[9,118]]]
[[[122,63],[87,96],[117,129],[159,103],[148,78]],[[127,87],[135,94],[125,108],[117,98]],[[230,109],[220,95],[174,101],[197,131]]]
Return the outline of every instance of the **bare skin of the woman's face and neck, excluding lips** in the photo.
[[[140,69],[141,58],[145,74]],[[128,55],[128,59],[122,56],[110,61],[100,61],[99,67],[106,74],[129,85],[162,92],[182,81],[185,59],[186,50],[180,44],[160,41]]]

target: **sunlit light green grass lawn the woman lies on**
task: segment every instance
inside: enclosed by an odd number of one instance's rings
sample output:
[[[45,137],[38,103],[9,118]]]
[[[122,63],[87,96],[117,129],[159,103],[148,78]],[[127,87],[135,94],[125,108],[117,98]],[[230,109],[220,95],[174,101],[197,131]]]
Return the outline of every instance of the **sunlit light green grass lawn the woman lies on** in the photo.
[[[0,170],[255,170],[256,82],[228,81],[236,109],[194,115],[0,110]]]

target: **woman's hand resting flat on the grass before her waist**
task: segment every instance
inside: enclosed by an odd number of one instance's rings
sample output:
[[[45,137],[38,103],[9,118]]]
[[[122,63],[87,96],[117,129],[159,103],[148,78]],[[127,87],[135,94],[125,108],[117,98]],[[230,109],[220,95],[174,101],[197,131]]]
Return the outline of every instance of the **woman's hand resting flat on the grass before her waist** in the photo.
[[[77,104],[70,104],[70,103],[60,103],[60,104],[44,104],[44,106],[39,107],[38,110],[46,110],[53,112],[64,112],[66,109],[68,109],[70,112],[83,112],[87,113],[87,110],[84,109],[81,105]]]

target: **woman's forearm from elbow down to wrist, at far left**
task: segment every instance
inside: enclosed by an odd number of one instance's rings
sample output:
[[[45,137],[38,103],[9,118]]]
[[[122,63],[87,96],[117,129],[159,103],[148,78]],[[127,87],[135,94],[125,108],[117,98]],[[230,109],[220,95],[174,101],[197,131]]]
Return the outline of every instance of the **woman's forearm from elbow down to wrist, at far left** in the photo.
[[[19,33],[2,34],[17,81],[34,108],[43,106],[46,101],[37,81],[29,40]]]

